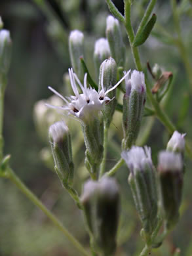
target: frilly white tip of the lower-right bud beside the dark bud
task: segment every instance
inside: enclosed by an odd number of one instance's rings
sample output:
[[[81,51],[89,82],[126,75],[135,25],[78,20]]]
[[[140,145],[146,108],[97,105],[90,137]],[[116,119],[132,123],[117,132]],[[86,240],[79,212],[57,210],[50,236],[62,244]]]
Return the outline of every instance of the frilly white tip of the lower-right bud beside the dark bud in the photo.
[[[121,157],[125,160],[128,168],[133,173],[134,171],[142,171],[145,163],[153,165],[151,160],[151,148],[145,146],[132,146],[128,151],[123,151]]]

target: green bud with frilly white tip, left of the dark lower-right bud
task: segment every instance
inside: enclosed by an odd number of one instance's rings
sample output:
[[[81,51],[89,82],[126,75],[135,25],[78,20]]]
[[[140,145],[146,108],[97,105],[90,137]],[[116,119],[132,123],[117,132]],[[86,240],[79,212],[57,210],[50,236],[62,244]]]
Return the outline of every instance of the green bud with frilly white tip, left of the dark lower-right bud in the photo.
[[[146,234],[152,234],[157,224],[157,185],[151,148],[132,146],[121,154],[130,169],[128,183],[136,209]]]

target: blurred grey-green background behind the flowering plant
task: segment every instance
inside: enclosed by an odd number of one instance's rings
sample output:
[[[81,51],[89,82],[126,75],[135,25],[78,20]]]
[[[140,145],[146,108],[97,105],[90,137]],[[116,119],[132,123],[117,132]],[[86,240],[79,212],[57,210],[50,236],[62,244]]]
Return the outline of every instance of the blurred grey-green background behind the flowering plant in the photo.
[[[123,12],[123,1],[114,2]],[[142,7],[145,7],[147,2],[144,0],[134,2],[132,22],[135,28],[144,14]],[[192,56],[191,5],[189,1],[178,1],[178,5],[183,41],[187,53]],[[159,24],[174,35],[170,1],[157,1],[155,13]],[[11,154],[10,163],[17,175],[85,247],[88,247],[88,235],[83,217],[62,188],[56,175],[50,171],[52,162],[47,152],[47,128],[43,130],[44,134],[42,131],[37,131],[38,123],[35,125],[33,108],[38,100],[52,95],[47,89],[48,85],[58,91],[68,92],[64,83],[64,74],[71,66],[67,43],[70,30],[78,29],[85,33],[86,64],[94,77],[92,64],[94,41],[105,37],[108,14],[104,0],[0,1],[0,15],[3,18],[4,28],[10,30],[12,37],[12,61],[5,95],[3,130],[5,154]],[[153,36],[150,36],[140,47],[142,62],[145,65],[149,60],[151,66],[158,63],[164,70],[174,73],[174,83],[164,108],[176,123],[178,130],[187,133],[187,138],[190,140],[192,90],[189,87],[189,79],[181,55],[178,49],[166,40],[161,30],[155,27],[153,32]],[[124,29],[123,36],[126,45],[126,70],[128,70],[134,68],[134,63]],[[45,123],[46,118],[47,112],[42,116]],[[157,119],[154,121],[153,117],[150,118],[144,118],[144,123],[147,125],[149,122],[153,123],[146,143],[151,146],[153,160],[156,162],[157,152],[166,147],[169,135]],[[73,125],[73,121],[69,122]],[[74,186],[81,193],[87,173],[83,167],[85,148],[79,125],[75,125],[72,134],[75,163],[79,166]],[[107,155],[108,169],[115,164],[121,153],[122,129],[121,116],[118,114],[113,119],[109,136],[114,143]],[[115,146],[117,144],[118,147]],[[139,254],[143,242],[139,235],[140,221],[128,188],[127,176],[125,167],[117,174],[117,180],[121,184],[123,205],[122,229],[118,236],[121,246],[117,249],[117,255],[134,256]],[[191,181],[191,161],[186,158],[182,218],[163,246],[152,255],[173,255],[175,247],[182,250],[181,255],[192,255]],[[0,195],[0,255],[80,255],[47,217],[10,181],[0,180]]]

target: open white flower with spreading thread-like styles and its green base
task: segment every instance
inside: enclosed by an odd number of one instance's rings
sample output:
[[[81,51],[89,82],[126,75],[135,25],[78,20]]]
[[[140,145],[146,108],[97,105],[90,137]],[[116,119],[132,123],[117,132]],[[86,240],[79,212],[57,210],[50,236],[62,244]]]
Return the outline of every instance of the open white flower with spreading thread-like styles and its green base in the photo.
[[[101,89],[96,91],[92,87],[87,87],[86,74],[83,86],[73,70],[69,69],[71,87],[74,92],[73,96],[65,98],[52,89],[52,87],[48,87],[53,93],[60,96],[60,98],[66,102],[66,105],[60,107],[47,105],[65,110],[68,114],[71,114],[81,121],[86,146],[85,165],[90,175],[96,175],[103,158],[104,122],[100,112],[104,103],[111,100],[107,94],[113,91],[119,83],[125,79],[126,75],[110,89],[106,90],[104,83],[102,83]],[[82,93],[79,93],[76,83],[79,85]]]

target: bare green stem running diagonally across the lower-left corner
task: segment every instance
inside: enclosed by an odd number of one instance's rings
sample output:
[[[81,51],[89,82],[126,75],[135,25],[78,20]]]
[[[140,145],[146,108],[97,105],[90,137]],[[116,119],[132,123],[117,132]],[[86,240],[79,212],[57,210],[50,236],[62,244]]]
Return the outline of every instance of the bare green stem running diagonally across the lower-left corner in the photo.
[[[81,245],[76,238],[73,237],[72,234],[65,228],[65,226],[58,221],[58,219],[41,203],[41,201],[35,196],[26,185],[17,177],[17,175],[12,171],[12,169],[7,169],[8,178],[12,181],[28,198],[33,202],[45,215],[47,215],[48,219],[54,223],[54,225],[66,236],[66,238],[81,252],[82,255],[89,256],[88,252],[84,249],[83,245]]]

